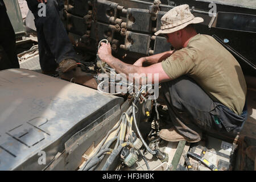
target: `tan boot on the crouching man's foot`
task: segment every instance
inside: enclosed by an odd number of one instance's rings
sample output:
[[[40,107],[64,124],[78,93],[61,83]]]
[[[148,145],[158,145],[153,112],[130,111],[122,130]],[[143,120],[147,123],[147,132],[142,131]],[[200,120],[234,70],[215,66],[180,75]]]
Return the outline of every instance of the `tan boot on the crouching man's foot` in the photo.
[[[179,133],[177,133],[174,127],[171,127],[171,129],[162,129],[159,133],[159,137],[169,142],[187,141],[193,143],[199,142],[201,140],[201,135],[200,138],[196,140],[185,138]]]

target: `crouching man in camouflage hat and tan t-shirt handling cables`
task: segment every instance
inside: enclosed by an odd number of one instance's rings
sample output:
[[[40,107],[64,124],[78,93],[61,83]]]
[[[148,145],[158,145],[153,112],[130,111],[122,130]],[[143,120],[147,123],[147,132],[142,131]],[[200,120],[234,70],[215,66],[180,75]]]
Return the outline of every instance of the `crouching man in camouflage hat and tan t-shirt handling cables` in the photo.
[[[118,73],[159,74],[173,124],[160,130],[164,140],[199,142],[202,131],[237,134],[247,118],[240,64],[212,36],[197,34],[193,24],[203,21],[188,5],[174,7],[155,35],[166,36],[175,50],[142,57],[133,65],[113,57],[110,44],[101,43],[98,50],[100,59]]]

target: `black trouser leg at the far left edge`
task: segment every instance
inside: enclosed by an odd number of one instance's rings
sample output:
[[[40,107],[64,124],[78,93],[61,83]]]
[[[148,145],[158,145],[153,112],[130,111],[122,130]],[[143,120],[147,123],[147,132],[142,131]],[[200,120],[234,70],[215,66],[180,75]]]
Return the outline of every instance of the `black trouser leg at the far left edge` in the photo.
[[[0,6],[0,70],[19,68],[16,38],[4,6]]]

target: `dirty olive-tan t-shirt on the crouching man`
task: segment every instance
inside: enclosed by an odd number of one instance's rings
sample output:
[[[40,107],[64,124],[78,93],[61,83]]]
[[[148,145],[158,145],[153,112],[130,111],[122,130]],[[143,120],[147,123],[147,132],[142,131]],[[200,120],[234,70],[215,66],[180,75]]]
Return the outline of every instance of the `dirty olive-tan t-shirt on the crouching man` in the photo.
[[[192,77],[213,101],[242,114],[246,96],[242,69],[212,36],[197,34],[187,47],[163,60],[162,67],[172,79],[181,75]]]

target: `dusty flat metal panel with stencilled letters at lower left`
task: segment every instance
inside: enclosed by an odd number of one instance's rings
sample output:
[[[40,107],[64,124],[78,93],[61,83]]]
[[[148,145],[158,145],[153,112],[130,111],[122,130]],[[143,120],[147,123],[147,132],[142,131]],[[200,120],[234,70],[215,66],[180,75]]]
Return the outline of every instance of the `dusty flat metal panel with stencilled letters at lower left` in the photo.
[[[39,170],[122,98],[26,69],[0,72],[0,169]],[[26,165],[23,165],[26,164]]]

